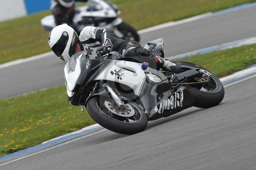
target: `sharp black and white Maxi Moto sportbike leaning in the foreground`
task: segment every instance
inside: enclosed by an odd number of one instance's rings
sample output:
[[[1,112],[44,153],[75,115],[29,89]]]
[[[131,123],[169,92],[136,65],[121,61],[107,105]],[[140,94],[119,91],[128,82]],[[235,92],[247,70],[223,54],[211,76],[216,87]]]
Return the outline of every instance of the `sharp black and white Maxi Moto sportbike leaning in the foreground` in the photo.
[[[163,39],[145,48],[164,55]],[[98,124],[120,134],[141,132],[148,120],[222,101],[224,88],[213,73],[193,63],[180,64],[181,72],[174,74],[152,69],[147,63],[96,60],[76,53],[65,66],[68,101],[82,110],[86,107]]]

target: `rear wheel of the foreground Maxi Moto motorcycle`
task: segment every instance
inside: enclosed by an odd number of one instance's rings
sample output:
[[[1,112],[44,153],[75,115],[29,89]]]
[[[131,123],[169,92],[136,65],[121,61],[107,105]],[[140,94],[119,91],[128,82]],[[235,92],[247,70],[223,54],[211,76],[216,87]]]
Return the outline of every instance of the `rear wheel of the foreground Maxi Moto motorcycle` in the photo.
[[[202,66],[195,65],[188,62],[180,62],[181,70],[188,70],[188,67],[200,68],[202,73],[200,76],[194,77],[191,82],[200,82],[202,84],[186,84],[186,88],[195,98],[195,107],[209,108],[220,104],[224,98],[224,87],[220,82],[219,78],[215,76],[212,72],[205,69]]]

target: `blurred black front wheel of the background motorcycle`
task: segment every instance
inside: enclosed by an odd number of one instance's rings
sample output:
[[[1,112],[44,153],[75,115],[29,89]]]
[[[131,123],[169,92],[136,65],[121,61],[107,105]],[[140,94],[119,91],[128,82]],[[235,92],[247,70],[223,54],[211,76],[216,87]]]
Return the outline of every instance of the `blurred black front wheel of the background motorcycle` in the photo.
[[[137,41],[138,43],[140,42],[140,35],[138,34],[137,30],[126,22],[122,22],[116,26],[114,28],[114,32],[117,38],[123,40],[133,40]]]

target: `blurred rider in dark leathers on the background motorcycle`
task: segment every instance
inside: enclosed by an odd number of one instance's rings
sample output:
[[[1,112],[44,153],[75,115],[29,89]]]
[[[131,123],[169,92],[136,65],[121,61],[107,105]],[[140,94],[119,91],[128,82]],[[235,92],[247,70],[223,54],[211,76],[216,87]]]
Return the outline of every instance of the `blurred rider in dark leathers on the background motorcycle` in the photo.
[[[69,26],[76,28],[72,22],[76,1],[87,2],[88,0],[51,0],[51,10],[57,26],[67,23]]]

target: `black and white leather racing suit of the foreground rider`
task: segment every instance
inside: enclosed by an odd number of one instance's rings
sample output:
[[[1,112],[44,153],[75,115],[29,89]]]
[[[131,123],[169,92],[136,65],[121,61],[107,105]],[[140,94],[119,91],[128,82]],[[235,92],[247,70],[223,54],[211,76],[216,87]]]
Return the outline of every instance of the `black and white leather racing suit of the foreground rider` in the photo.
[[[119,59],[122,60],[139,63],[148,62],[149,66],[154,69],[159,69],[164,63],[163,58],[141,47],[138,42],[116,38],[111,29],[100,29],[92,26],[84,27],[79,35],[79,45],[81,50],[86,51],[87,58],[95,58],[97,49],[105,45],[109,46],[111,51],[121,54],[123,57]]]

